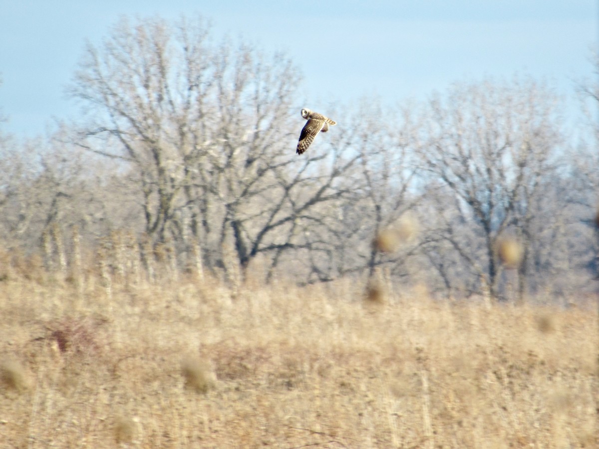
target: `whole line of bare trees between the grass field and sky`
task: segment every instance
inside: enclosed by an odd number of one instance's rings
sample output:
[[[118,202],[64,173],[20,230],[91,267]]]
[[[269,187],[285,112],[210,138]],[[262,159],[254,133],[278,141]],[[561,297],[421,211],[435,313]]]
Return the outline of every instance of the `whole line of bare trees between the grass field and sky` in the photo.
[[[225,278],[256,264],[264,281],[384,273],[456,297],[595,288],[592,114],[574,133],[546,83],[455,83],[331,107],[338,126],[299,157],[299,74],[284,54],[214,40],[201,17],[122,19],[69,84],[80,117],[47,139],[0,135],[7,254],[64,269],[126,232],[146,267],[162,247],[174,269]],[[579,86],[581,111],[597,89]]]

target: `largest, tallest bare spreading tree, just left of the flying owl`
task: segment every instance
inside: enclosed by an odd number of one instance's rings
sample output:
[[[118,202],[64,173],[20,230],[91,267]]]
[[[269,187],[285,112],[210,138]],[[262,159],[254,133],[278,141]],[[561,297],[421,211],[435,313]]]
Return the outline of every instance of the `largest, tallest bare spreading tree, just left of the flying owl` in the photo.
[[[199,242],[223,266],[231,235],[241,266],[268,254],[274,269],[285,251],[326,240],[299,228],[326,227],[325,204],[349,191],[340,180],[356,160],[295,156],[298,73],[282,54],[214,44],[202,19],[123,20],[75,75],[70,92],[90,112],[77,142],[122,161],[153,241]]]

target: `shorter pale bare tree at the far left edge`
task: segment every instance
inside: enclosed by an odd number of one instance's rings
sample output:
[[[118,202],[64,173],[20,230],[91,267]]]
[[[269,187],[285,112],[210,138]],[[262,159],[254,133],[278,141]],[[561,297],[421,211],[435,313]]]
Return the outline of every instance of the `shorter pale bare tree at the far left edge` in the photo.
[[[3,247],[26,256],[42,253],[46,268],[65,272],[74,260],[70,253],[75,234],[78,245],[90,248],[96,238],[126,221],[119,217],[119,196],[104,195],[110,175],[103,165],[80,148],[64,144],[60,131],[50,139],[27,139],[4,148],[0,153]],[[116,211],[107,213],[113,205]]]

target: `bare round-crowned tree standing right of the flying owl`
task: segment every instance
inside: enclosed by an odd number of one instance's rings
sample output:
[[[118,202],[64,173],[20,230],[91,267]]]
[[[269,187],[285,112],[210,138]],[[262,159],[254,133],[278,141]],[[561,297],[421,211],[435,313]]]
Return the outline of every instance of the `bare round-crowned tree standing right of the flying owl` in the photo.
[[[527,275],[535,202],[555,172],[562,143],[558,101],[531,80],[456,84],[446,98],[432,99],[419,157],[431,183],[450,193],[459,219],[443,212],[434,230],[480,279],[483,291],[498,297],[502,266],[497,248],[507,232],[522,245],[519,274]],[[463,228],[468,232],[464,233]],[[524,284],[519,284],[522,294]]]

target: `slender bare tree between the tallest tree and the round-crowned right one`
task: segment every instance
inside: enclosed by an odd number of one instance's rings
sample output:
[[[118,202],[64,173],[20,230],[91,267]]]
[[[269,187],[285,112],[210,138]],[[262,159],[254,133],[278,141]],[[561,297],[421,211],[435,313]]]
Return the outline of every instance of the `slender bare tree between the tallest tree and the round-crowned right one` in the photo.
[[[419,201],[410,146],[417,125],[409,108],[386,108],[376,99],[362,99],[352,111],[342,120],[354,125],[340,129],[332,145],[357,158],[346,174],[351,194],[337,211],[343,226],[331,230],[332,265],[338,275],[372,277],[382,266],[391,275],[406,275],[405,262],[416,250],[412,242],[404,244],[417,227],[408,214]]]

